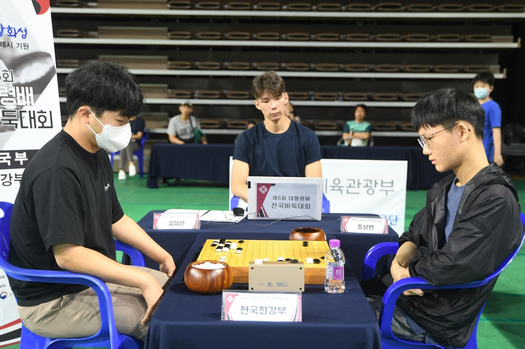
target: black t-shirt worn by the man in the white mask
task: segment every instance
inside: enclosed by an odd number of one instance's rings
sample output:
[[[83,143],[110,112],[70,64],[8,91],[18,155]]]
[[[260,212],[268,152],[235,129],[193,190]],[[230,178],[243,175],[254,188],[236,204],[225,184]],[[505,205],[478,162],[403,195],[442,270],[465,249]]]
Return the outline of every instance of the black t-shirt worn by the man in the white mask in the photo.
[[[51,248],[60,243],[116,259],[111,225],[123,215],[106,151],[92,154],[61,130],[24,170],[11,216],[9,263],[28,269],[64,270],[57,265]],[[9,283],[22,307],[87,289],[10,277]]]

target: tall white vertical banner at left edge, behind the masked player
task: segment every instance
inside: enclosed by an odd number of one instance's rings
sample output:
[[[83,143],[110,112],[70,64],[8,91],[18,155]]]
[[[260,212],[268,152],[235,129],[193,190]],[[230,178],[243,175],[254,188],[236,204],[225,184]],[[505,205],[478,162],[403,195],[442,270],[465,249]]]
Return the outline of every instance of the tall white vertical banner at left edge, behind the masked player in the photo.
[[[49,0],[0,3],[0,201],[13,203],[24,168],[60,131],[61,119]],[[20,329],[0,271],[0,347],[18,343]]]

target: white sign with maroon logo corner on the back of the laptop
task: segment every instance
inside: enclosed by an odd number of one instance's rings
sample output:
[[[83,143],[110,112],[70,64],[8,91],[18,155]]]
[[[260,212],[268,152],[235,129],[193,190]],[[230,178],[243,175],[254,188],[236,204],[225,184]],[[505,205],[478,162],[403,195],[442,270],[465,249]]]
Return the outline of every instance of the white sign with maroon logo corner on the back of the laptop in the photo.
[[[319,184],[285,182],[255,185],[256,219],[315,219]]]

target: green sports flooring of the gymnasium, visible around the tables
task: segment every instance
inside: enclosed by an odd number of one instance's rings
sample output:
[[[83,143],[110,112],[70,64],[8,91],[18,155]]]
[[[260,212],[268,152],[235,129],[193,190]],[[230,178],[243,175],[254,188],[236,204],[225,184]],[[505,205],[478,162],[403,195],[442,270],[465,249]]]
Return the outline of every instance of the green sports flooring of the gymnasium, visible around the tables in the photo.
[[[519,197],[525,198],[525,180],[514,180],[514,186]],[[136,176],[119,181],[116,175],[115,188],[124,213],[135,221],[157,209],[228,210],[228,188],[207,182],[170,181],[159,189],[148,189],[145,178]],[[405,229],[425,202],[425,190],[407,192]],[[6,349],[18,347],[12,345]],[[478,348],[525,349],[525,252],[514,258],[492,290],[478,325]]]

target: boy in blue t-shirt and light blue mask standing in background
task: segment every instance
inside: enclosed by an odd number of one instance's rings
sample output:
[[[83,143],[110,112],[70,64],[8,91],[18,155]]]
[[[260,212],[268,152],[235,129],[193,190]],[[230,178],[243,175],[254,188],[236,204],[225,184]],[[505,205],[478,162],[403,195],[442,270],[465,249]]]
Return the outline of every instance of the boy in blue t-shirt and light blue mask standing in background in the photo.
[[[485,136],[483,145],[489,162],[496,162],[498,166],[503,165],[501,155],[501,108],[499,104],[490,98],[494,91],[494,75],[490,72],[478,73],[472,79],[474,95],[479,104],[485,110]]]

